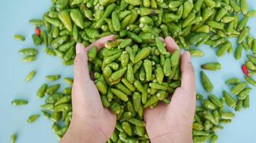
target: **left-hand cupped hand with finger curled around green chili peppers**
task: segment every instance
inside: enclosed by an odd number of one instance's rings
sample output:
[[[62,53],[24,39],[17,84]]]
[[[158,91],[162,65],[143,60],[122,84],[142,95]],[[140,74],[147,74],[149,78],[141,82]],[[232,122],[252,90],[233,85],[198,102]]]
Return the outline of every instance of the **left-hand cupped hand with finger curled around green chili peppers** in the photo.
[[[87,56],[92,46],[97,46],[99,51],[106,41],[113,39],[113,35],[106,36],[87,48],[82,44],[76,45],[72,90],[73,116],[68,131],[60,142],[106,142],[114,132],[116,115],[105,109],[101,103],[98,89],[89,75]]]

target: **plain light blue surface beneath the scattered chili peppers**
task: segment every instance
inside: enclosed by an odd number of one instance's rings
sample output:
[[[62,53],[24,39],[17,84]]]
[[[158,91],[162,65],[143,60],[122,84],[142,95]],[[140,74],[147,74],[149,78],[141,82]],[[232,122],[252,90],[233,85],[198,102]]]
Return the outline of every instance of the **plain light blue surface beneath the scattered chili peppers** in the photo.
[[[250,9],[256,9],[255,1],[248,0],[248,2]],[[22,56],[17,53],[19,49],[33,46],[31,34],[34,32],[34,27],[27,21],[40,19],[42,14],[49,9],[50,0],[1,0],[0,4],[0,142],[9,142],[14,132],[18,134],[17,142],[58,142],[52,133],[50,121],[40,117],[34,124],[27,124],[26,120],[29,115],[40,113],[40,104],[44,100],[37,99],[35,94],[37,89],[46,82],[45,75],[61,74],[63,77],[72,77],[73,67],[62,66],[60,59],[47,56],[44,47],[38,48],[40,54],[32,64],[23,63]],[[256,19],[250,19],[249,25],[252,28],[251,34],[256,37],[254,32],[256,31]],[[14,34],[23,34],[26,36],[26,41],[15,41],[12,39]],[[203,58],[193,59],[198,93],[206,94],[198,80],[200,65],[206,62],[219,61],[222,64],[221,71],[206,71],[214,83],[213,93],[219,97],[224,89],[229,91],[224,81],[230,77],[239,77],[244,80],[240,66],[246,60],[245,52],[242,60],[236,61],[232,54],[217,58],[215,51],[209,46],[201,46],[200,49],[207,54]],[[24,84],[23,79],[31,70],[37,70],[36,77]],[[63,84],[63,87],[68,87],[68,85]],[[256,142],[255,93],[254,88],[250,94],[250,109],[237,113],[232,124],[225,125],[224,130],[218,133],[220,143]],[[24,107],[12,107],[12,100],[19,98],[28,99],[29,104]]]

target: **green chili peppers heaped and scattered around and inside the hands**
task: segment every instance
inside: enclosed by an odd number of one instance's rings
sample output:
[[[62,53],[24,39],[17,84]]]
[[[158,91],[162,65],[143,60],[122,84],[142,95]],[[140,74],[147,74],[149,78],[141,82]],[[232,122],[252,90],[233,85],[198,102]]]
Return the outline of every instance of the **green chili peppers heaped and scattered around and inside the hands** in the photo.
[[[234,57],[240,59],[242,49],[256,54],[256,39],[246,26],[253,16],[256,11],[248,10],[246,0],[52,0],[50,11],[42,20],[32,19],[29,23],[37,27],[32,35],[35,46],[44,44],[45,52],[60,57],[66,66],[73,65],[76,43],[88,46],[103,36],[115,34],[116,40],[108,41],[99,53],[95,47],[88,53],[89,69],[94,73],[102,103],[118,117],[108,142],[150,142],[144,128],[143,108],[153,108],[158,101],[169,103],[168,94],[180,85],[178,51],[169,54],[158,37],[172,36],[193,57],[204,56],[204,52],[195,48],[202,44],[217,49],[219,57],[230,54],[233,46],[228,39],[237,37]],[[14,38],[24,41],[21,35]],[[31,62],[37,50],[27,48],[19,53],[25,56],[23,61]],[[200,104],[193,123],[193,142],[217,141],[215,132],[234,117],[232,112],[224,111],[225,104],[236,111],[250,106],[251,88],[247,82],[256,86],[255,80],[249,77],[256,73],[256,57],[247,57],[249,60],[242,66],[246,82],[237,78],[226,82],[232,85],[230,93],[236,97],[226,91],[221,99],[212,94],[204,99],[197,94]],[[206,63],[201,68],[218,71],[221,64]],[[34,76],[35,71],[31,71],[25,81]],[[60,75],[47,76],[49,81],[57,79]],[[64,80],[72,86],[73,79]],[[213,91],[214,84],[204,71],[201,81],[206,92]],[[58,92],[59,87],[60,84],[50,87],[43,84],[37,97],[50,95],[41,106],[42,114],[54,122],[52,129],[61,138],[70,124],[72,107],[71,87],[62,93]],[[13,102],[19,103],[28,102],[21,99]],[[32,115],[28,122],[38,117]],[[65,122],[65,126],[58,126],[59,122]]]

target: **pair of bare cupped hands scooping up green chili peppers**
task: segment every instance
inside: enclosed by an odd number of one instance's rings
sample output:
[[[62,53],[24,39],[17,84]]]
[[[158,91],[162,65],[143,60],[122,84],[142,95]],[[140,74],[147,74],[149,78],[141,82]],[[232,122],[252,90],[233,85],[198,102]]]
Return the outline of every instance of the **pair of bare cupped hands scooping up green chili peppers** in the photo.
[[[116,115],[101,104],[101,98],[88,71],[88,51],[96,46],[99,51],[114,35],[95,41],[88,47],[76,45],[74,83],[72,90],[73,117],[61,143],[107,141],[114,132]],[[166,49],[172,53],[179,49],[169,36]],[[196,108],[195,74],[188,51],[180,59],[181,85],[171,98],[170,104],[160,103],[155,109],[145,109],[144,120],[150,142],[189,143],[192,139],[193,116]]]

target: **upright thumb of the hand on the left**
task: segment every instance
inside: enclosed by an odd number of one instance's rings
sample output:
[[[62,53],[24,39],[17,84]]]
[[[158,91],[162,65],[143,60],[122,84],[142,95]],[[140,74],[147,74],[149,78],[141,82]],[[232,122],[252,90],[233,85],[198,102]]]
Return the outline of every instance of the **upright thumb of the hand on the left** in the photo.
[[[88,56],[83,44],[76,44],[76,59],[74,61],[74,82],[85,85],[90,79],[88,71]]]

